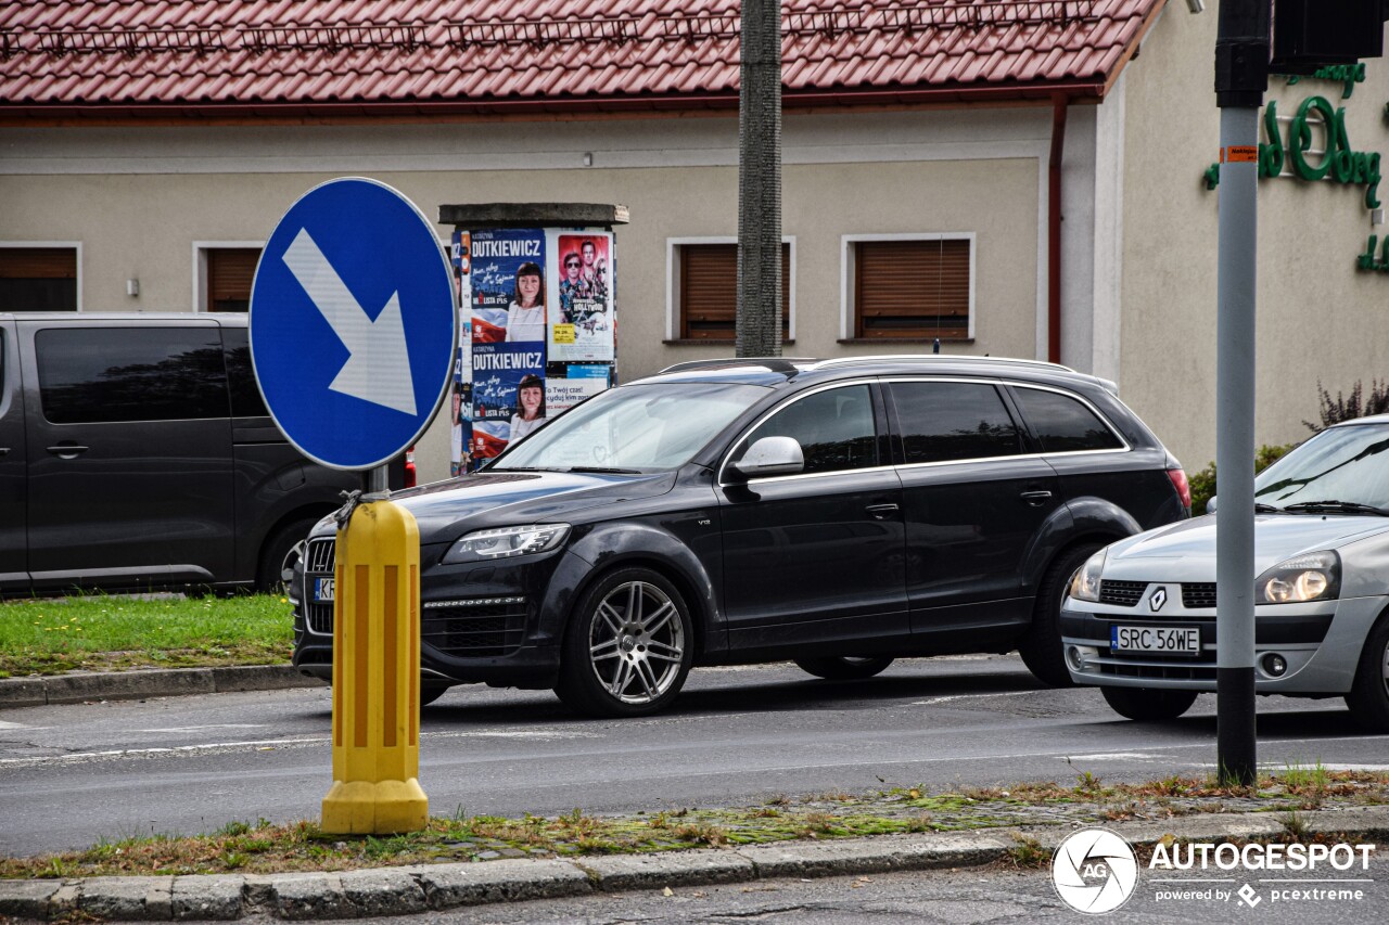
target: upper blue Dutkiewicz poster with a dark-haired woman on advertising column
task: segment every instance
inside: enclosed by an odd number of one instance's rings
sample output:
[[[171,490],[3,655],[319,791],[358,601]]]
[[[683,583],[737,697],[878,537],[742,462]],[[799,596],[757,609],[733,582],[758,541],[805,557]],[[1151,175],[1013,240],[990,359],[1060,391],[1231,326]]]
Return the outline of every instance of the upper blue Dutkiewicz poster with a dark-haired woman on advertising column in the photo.
[[[544,231],[506,228],[469,235],[474,343],[546,340]]]

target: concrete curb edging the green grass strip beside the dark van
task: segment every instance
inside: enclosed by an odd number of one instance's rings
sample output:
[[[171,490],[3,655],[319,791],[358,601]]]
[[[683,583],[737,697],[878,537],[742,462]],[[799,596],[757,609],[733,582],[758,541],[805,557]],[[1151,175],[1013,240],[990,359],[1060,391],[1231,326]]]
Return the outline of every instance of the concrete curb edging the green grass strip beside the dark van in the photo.
[[[319,688],[325,682],[299,674],[292,665],[231,665],[226,668],[160,668],[101,671],[51,678],[0,679],[0,710],[43,707],[86,700],[139,700],[231,690]]]

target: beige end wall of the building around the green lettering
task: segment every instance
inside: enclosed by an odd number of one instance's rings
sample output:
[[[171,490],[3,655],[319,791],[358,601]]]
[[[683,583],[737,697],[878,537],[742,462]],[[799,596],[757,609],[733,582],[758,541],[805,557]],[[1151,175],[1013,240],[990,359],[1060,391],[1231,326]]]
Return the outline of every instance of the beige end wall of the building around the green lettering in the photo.
[[[1170,4],[1125,79],[1120,385],[1189,471],[1215,457],[1218,193],[1201,182],[1220,144],[1215,26],[1214,10],[1190,15]],[[1293,115],[1304,99],[1322,96],[1346,107],[1353,150],[1389,153],[1389,62],[1365,64],[1367,81],[1349,100],[1338,82],[1289,86],[1276,76],[1265,99],[1278,101],[1279,115]],[[1367,238],[1382,242],[1389,228],[1371,225],[1363,199],[1364,186],[1260,181],[1260,443],[1310,435],[1301,421],[1317,419],[1318,381],[1336,393],[1389,376],[1389,274],[1356,269]],[[1389,183],[1379,199],[1389,203]]]

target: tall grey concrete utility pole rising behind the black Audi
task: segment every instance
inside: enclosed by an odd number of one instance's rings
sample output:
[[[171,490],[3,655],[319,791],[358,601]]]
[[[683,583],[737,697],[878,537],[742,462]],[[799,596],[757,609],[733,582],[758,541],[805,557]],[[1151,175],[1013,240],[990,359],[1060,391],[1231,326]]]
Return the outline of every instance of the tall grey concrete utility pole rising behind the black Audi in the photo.
[[[738,92],[739,357],[781,356],[781,0],[743,0]]]

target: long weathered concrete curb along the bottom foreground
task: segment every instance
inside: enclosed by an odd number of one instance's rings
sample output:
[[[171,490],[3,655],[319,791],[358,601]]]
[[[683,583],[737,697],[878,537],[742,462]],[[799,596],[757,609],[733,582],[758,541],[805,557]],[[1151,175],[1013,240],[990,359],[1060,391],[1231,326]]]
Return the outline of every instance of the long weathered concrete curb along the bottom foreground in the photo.
[[[1297,814],[1303,839],[1354,833],[1389,839],[1389,807]],[[1104,828],[1133,844],[1165,835],[1189,842],[1276,836],[1286,817],[1220,812]],[[463,906],[783,876],[842,876],[886,871],[976,867],[1010,857],[1021,838],[1054,850],[1071,826],[888,835],[829,842],[783,842],[569,860],[510,858],[471,864],[392,867],[336,874],[97,876],[68,881],[0,881],[0,915],[47,921],[75,912],[124,921],[231,921],[243,917],[304,921],[438,911]]]

